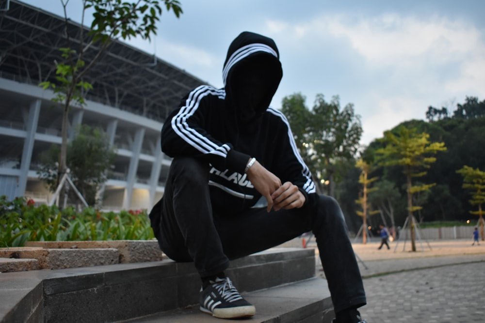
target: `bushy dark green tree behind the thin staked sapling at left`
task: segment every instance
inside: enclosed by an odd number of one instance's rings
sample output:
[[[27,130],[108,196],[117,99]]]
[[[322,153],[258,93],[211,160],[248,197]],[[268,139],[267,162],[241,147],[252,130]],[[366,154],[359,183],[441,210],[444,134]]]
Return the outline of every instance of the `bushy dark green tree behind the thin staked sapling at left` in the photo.
[[[52,145],[49,151],[41,155],[42,165],[39,177],[54,192],[57,188],[57,160],[59,145]],[[82,125],[77,129],[77,136],[67,145],[66,165],[71,179],[89,205],[97,204],[96,194],[106,180],[115,151],[110,148],[108,138],[98,129]],[[75,195],[69,191],[69,198]]]

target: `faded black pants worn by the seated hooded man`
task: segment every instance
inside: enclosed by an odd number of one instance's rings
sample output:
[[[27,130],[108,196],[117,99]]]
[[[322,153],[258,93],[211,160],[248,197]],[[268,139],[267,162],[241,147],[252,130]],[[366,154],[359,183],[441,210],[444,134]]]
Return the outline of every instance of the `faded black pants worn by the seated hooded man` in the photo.
[[[252,208],[237,216],[216,214],[208,182],[206,163],[189,157],[172,161],[164,196],[150,214],[155,236],[169,258],[194,261],[205,277],[224,271],[229,260],[313,231],[335,311],[366,304],[356,257],[336,200],[319,196],[315,209],[267,213],[266,208]]]

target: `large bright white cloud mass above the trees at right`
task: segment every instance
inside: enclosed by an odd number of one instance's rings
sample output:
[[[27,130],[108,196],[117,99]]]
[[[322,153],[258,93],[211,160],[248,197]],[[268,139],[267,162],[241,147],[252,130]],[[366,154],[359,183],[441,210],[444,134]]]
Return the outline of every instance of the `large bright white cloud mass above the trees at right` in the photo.
[[[342,102],[353,102],[364,143],[404,120],[424,119],[430,105],[485,95],[484,35],[464,20],[332,13],[266,26],[283,40],[285,52],[304,58],[300,66],[324,60],[305,69],[302,92],[311,99],[307,91],[319,84],[327,97],[339,94]]]

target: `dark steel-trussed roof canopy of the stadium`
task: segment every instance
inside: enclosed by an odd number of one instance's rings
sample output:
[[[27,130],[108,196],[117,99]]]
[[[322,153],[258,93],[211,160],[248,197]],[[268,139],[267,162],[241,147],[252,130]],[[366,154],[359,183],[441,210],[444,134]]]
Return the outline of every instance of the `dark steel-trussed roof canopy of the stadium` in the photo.
[[[68,29],[76,49],[89,29],[74,22]],[[56,62],[63,60],[59,48],[68,44],[63,17],[11,0],[9,10],[0,12],[0,39],[1,77],[32,84],[55,81]],[[98,51],[90,46],[83,60],[89,62]],[[93,85],[87,99],[161,122],[191,89],[207,84],[122,42],[108,47],[84,81]]]

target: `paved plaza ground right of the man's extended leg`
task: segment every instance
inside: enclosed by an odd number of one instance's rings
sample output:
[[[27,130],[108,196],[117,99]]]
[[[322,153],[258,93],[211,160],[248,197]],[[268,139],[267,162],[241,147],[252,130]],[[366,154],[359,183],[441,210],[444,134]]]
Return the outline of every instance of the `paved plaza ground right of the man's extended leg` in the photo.
[[[426,241],[410,252],[409,241],[377,250],[379,242],[353,244],[360,258],[369,323],[485,322],[485,243]],[[311,246],[311,245],[310,245]],[[422,246],[422,247],[421,247]],[[395,251],[394,251],[395,250]],[[316,250],[318,251],[318,250]],[[365,268],[367,267],[367,269]],[[317,275],[323,277],[317,265]]]

